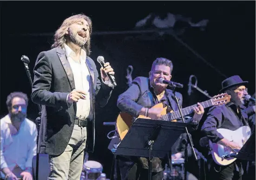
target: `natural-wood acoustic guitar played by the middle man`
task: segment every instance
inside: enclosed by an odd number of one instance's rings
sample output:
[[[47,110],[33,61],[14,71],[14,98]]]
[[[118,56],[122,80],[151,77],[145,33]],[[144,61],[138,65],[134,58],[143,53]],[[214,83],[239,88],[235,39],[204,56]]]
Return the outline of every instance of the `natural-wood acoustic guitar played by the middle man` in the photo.
[[[222,93],[212,97],[207,101],[204,101],[203,103],[201,103],[201,105],[203,106],[203,108],[208,108],[213,105],[222,105],[228,102],[230,102],[230,95],[228,95],[227,93]],[[181,109],[183,116],[189,115],[191,112],[193,112],[194,107],[197,107],[197,104]],[[178,110],[171,110],[170,112],[167,112],[167,107],[164,107],[163,103],[158,103],[154,105],[153,108],[163,108],[161,116],[160,118],[158,118],[158,120],[177,122],[177,119],[181,117]],[[138,118],[151,119],[150,117],[146,117],[143,115],[139,115],[136,119]],[[116,120],[116,130],[121,140],[124,139],[125,135],[130,129],[133,119],[134,117],[131,116],[131,114],[129,113],[119,113]]]

